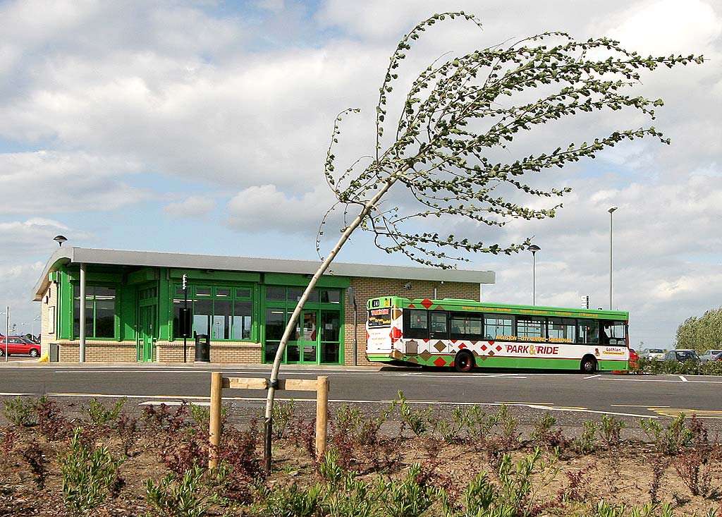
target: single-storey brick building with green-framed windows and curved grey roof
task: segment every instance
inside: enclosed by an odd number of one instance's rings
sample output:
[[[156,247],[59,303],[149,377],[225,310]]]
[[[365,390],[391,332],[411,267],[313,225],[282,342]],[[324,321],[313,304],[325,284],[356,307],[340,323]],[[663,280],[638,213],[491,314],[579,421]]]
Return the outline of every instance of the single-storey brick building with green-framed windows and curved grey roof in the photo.
[[[35,285],[43,354],[71,362],[192,362],[193,336],[208,336],[211,362],[273,362],[316,269],[316,261],[61,247]],[[493,271],[334,263],[305,303],[284,361],[368,364],[369,298],[479,300],[481,284],[494,282]],[[186,339],[185,308],[193,333]]]

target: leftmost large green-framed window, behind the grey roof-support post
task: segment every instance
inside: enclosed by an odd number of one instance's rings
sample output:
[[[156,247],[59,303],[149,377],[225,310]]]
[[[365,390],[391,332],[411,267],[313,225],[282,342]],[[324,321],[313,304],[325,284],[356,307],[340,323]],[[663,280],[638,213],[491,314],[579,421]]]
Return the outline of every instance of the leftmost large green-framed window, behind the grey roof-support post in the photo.
[[[75,287],[74,336],[80,335],[80,288]],[[113,338],[116,336],[116,290],[113,287],[88,285],[85,287],[85,336]]]

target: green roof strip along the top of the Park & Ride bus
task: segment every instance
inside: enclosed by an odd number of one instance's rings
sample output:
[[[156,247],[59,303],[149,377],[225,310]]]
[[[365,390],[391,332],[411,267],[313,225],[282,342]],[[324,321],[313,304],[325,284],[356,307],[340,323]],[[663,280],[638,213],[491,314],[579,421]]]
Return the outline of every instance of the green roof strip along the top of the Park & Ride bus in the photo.
[[[373,300],[380,301],[373,305]],[[600,310],[568,307],[544,307],[541,305],[512,305],[508,303],[486,303],[476,300],[460,300],[458,298],[443,298],[442,300],[429,300],[427,298],[404,298],[401,296],[382,296],[368,300],[367,308],[397,307],[419,308],[434,310],[463,310],[468,312],[529,314],[535,316],[559,316],[567,318],[593,318],[616,319],[629,321],[629,313],[624,310]]]

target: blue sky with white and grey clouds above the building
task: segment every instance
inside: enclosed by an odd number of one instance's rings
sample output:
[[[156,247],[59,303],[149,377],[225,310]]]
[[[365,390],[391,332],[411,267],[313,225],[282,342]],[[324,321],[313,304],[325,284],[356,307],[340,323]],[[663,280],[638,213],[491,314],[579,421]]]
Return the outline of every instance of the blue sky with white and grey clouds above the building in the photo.
[[[707,58],[638,88],[664,98],[654,125],[671,146],[635,141],[549,172],[542,184],[573,188],[557,217],[468,235],[534,236],[537,304],[589,295],[608,308],[618,206],[614,308],[630,311],[632,344],[669,347],[685,318],[722,305],[718,0],[0,1],[0,305],[37,331],[32,287],[57,234],[66,246],[316,259],[336,113],[362,110],[345,121],[342,158],[368,154],[399,38],[461,9],[484,30],[431,30],[402,73],[548,30]],[[638,126],[627,116],[605,122]],[[340,260],[413,265],[361,235]],[[521,253],[461,267],[497,272],[484,300],[531,303],[531,265]]]

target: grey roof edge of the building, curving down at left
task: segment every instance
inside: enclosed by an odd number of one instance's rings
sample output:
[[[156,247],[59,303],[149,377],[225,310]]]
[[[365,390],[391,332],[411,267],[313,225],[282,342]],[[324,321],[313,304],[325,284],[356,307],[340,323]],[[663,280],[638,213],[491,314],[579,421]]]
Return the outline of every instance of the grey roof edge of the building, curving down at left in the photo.
[[[105,264],[112,266],[170,267],[178,269],[216,269],[220,271],[253,271],[261,273],[314,274],[318,261],[287,259],[261,259],[256,257],[191,255],[160,251],[103,250],[97,248],[58,248],[45,264],[43,274],[35,284],[35,301],[40,300],[48,289],[48,273],[65,264]],[[431,267],[383,266],[378,264],[350,264],[334,262],[327,275],[341,277],[399,278],[408,280],[431,280],[466,282],[469,284],[493,284],[494,271],[470,269],[438,269]]]

